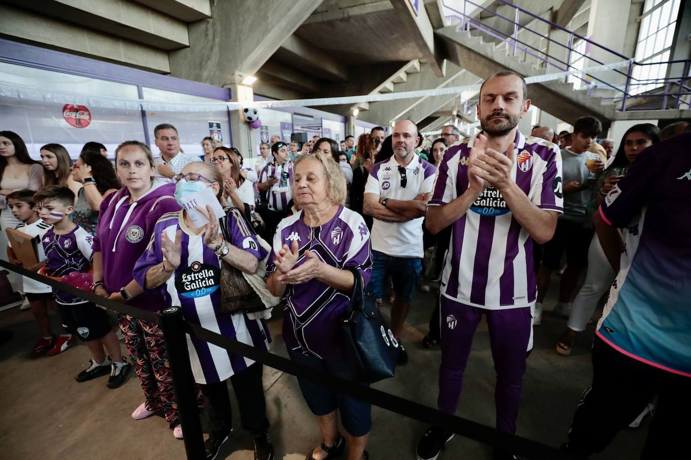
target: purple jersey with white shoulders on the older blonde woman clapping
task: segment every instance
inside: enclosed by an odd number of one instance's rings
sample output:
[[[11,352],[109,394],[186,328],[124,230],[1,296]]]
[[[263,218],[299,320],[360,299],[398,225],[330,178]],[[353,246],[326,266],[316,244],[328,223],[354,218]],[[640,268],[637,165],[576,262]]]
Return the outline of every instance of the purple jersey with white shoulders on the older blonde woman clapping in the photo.
[[[291,246],[297,241],[301,257],[296,267],[305,262],[305,250],[310,250],[330,266],[357,268],[364,283],[370,281],[370,232],[360,214],[341,206],[334,218],[320,227],[307,226],[302,217],[300,211],[278,224],[267,263],[268,274],[276,271],[273,262],[283,245]],[[283,299],[283,339],[288,348],[323,359],[346,359],[339,320],[345,317],[350,292],[311,279],[288,285]]]

